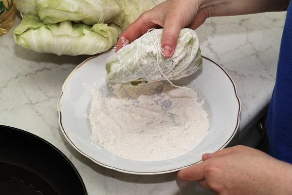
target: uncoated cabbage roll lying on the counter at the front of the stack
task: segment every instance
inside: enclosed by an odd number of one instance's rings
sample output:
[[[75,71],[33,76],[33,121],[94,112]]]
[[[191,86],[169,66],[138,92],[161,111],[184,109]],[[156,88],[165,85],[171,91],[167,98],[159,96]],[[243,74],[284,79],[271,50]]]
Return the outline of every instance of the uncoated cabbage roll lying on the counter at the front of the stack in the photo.
[[[94,55],[116,44],[118,31],[108,24],[89,26],[62,21],[45,24],[35,14],[25,15],[14,30],[15,42],[39,53]]]

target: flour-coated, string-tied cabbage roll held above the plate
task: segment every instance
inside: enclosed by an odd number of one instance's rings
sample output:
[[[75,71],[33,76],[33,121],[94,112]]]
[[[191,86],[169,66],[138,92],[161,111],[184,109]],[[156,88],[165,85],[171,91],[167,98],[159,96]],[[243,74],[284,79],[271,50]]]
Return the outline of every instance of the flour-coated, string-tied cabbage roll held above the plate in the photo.
[[[161,55],[162,33],[163,29],[153,29],[111,56],[106,62],[107,80],[115,83],[169,81],[187,77],[201,68],[201,50],[193,30],[181,30],[170,59]]]

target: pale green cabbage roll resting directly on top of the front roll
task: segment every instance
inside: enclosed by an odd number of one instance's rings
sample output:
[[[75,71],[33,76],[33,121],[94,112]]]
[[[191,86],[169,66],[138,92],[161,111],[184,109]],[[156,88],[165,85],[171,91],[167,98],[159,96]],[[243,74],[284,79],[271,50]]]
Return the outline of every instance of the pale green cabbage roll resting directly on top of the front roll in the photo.
[[[109,23],[122,12],[116,0],[36,0],[35,6],[46,24],[65,20]]]

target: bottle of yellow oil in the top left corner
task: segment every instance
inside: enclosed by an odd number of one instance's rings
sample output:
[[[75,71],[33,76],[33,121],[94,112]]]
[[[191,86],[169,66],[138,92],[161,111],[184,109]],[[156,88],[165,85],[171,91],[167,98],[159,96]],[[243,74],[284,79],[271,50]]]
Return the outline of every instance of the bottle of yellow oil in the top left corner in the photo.
[[[7,33],[15,22],[15,6],[12,0],[0,0],[0,36]]]

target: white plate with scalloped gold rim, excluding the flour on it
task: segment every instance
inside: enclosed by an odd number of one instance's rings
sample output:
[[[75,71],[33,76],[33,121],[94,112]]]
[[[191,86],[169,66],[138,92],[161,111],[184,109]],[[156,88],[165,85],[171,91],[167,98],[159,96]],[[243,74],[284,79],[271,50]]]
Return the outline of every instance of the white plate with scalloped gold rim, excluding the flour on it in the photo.
[[[175,84],[190,83],[186,86],[197,87],[201,98],[205,98],[203,108],[210,121],[210,133],[189,153],[171,160],[142,162],[112,154],[91,143],[90,114],[91,94],[82,85],[95,82],[95,89],[106,89],[105,62],[114,54],[114,48],[98,56],[91,57],[73,70],[66,79],[58,101],[59,125],[69,143],[82,155],[93,162],[124,173],[151,175],[181,170],[201,161],[206,152],[215,152],[224,148],[234,137],[239,125],[240,100],[233,80],[226,71],[211,59],[203,58],[203,67],[194,75],[175,81]],[[102,91],[102,90],[101,90]]]

